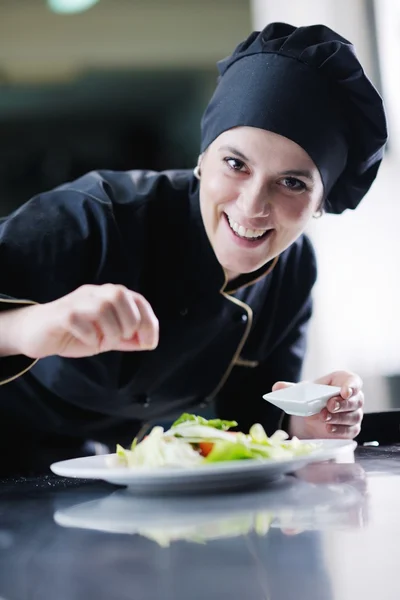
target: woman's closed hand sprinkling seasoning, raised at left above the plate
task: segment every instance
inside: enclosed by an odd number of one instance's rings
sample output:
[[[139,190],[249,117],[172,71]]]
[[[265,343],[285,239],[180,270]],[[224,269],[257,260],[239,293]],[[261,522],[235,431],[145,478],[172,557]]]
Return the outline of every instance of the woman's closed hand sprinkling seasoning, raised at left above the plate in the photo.
[[[12,312],[10,342],[30,358],[79,358],[158,345],[159,325],[150,304],[121,285],[84,285],[53,302]]]

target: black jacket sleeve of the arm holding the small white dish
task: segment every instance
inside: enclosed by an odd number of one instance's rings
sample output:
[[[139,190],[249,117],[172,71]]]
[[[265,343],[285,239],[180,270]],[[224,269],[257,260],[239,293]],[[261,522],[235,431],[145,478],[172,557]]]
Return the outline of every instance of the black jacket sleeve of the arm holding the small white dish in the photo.
[[[242,431],[248,431],[253,423],[261,423],[269,435],[276,429],[287,428],[285,414],[262,396],[270,392],[277,381],[301,379],[312,315],[311,290],[316,280],[315,255],[307,239],[300,261],[292,266],[287,264],[283,279],[278,295],[281,308],[261,360],[255,367],[240,363],[235,366],[216,398],[217,414],[238,421]]]

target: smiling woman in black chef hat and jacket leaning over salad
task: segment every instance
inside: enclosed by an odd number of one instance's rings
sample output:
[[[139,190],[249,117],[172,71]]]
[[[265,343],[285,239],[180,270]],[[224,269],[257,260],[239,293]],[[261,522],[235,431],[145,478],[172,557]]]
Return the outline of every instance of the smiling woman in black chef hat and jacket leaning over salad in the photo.
[[[0,223],[3,472],[207,404],[242,431],[358,435],[353,373],[317,379],[340,393],[310,417],[262,396],[301,377],[316,279],[304,230],[374,181],[381,98],[322,25],[269,25],[218,67],[194,172],[92,172]]]

